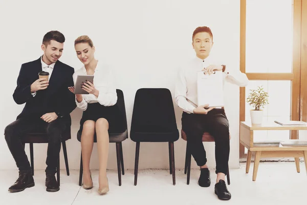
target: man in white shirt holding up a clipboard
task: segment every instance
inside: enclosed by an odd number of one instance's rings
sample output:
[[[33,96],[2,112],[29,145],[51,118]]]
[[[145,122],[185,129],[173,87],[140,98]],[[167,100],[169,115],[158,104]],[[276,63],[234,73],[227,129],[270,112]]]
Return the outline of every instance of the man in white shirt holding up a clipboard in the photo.
[[[203,71],[207,75],[211,75],[215,71],[223,72],[224,80],[243,87],[247,86],[248,78],[238,69],[230,70],[226,65],[211,63],[212,59],[209,54],[213,46],[213,35],[210,28],[196,28],[192,36],[192,46],[196,57],[181,67],[175,91],[176,103],[184,111],[182,129],[187,135],[189,150],[201,168],[199,178],[201,187],[209,187],[211,183],[202,136],[204,132],[208,132],[214,137],[217,174],[214,192],[219,199],[229,200],[231,194],[225,183],[230,150],[229,123],[224,108],[208,108],[208,104],[198,105],[197,72]]]

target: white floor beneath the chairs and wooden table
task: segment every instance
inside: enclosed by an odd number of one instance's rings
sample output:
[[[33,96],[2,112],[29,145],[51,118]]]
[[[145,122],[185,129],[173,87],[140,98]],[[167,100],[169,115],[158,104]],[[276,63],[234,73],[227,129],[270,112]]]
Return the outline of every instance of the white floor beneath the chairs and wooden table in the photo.
[[[297,173],[294,162],[262,162],[257,180],[252,181],[253,163],[250,173],[245,173],[245,163],[240,169],[230,170],[232,194],[229,201],[221,201],[214,194],[215,173],[211,170],[211,186],[198,185],[199,170],[191,170],[190,185],[186,185],[183,170],[176,170],[176,186],[168,170],[141,170],[138,185],[134,186],[133,171],[122,176],[122,186],[118,186],[117,172],[108,171],[110,191],[98,195],[98,171],[92,171],[94,188],[84,190],[78,186],[79,171],[71,170],[67,176],[61,170],[60,191],[46,192],[45,172],[35,171],[35,187],[23,192],[9,193],[7,189],[17,178],[17,171],[0,171],[1,204],[306,204],[307,176],[304,162],[300,162],[301,172]]]

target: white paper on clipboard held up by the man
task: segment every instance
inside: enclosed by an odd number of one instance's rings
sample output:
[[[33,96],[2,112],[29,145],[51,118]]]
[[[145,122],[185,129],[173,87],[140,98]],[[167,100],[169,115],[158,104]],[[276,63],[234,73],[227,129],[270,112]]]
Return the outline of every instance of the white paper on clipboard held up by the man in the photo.
[[[223,72],[205,75],[204,71],[197,73],[198,106],[209,104],[209,107],[224,106]]]

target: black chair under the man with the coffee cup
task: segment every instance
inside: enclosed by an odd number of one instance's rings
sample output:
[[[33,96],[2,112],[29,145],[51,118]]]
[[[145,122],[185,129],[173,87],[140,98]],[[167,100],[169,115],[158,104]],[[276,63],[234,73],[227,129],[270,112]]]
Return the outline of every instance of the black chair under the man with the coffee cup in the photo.
[[[69,176],[69,167],[68,167],[68,157],[67,157],[67,149],[66,149],[66,140],[71,139],[71,127],[68,127],[62,136],[62,146],[63,146],[63,154],[66,166],[66,172]],[[33,143],[48,143],[48,137],[46,133],[29,133],[26,134],[24,137],[21,138],[21,142],[23,143],[24,147],[26,143],[30,145],[30,161],[31,161],[31,169],[32,175],[34,175],[34,156],[33,156]],[[56,168],[57,174],[57,182],[60,186],[60,159],[58,160],[58,166]]]

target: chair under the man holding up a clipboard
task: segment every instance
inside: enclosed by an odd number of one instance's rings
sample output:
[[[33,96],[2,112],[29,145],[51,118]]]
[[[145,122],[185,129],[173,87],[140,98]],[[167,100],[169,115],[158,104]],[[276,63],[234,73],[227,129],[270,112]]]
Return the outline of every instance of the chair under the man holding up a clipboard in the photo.
[[[187,141],[187,135],[183,130],[181,130],[181,138],[183,140]],[[229,135],[229,139],[230,138],[231,137]],[[214,137],[211,136],[208,132],[204,132],[203,137],[202,137],[202,141],[214,142]],[[191,156],[192,156],[192,154],[191,154],[191,151],[190,151],[190,146],[189,146],[188,141],[187,141],[186,158],[185,158],[185,164],[184,164],[184,173],[185,174],[188,173],[187,174],[187,185],[190,184]],[[228,185],[230,185],[229,167],[227,167],[226,177],[227,177]]]

